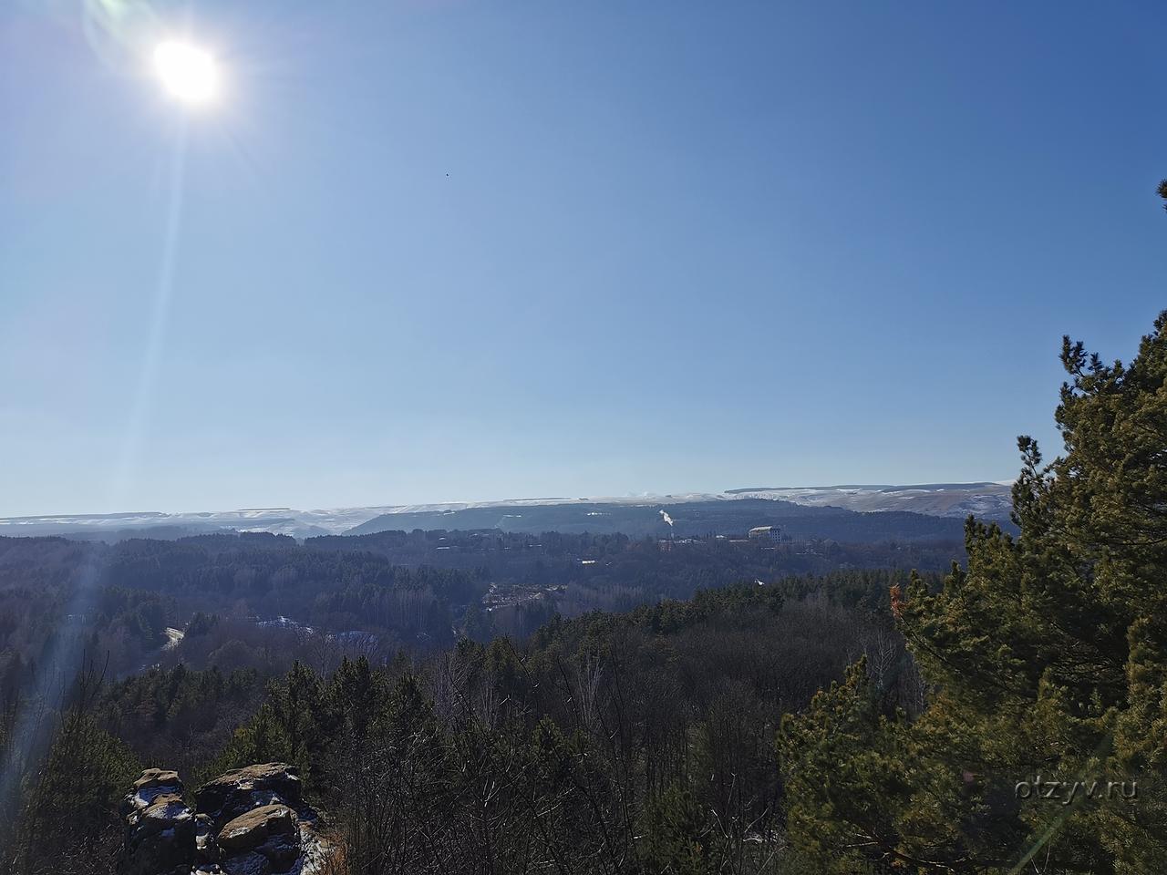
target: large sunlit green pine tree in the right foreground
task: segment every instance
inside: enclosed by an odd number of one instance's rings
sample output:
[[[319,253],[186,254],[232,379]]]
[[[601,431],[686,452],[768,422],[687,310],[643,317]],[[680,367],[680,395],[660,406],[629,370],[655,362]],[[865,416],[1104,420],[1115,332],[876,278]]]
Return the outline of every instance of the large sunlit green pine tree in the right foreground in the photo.
[[[924,712],[879,715],[857,667],[783,727],[824,872],[1167,872],[1167,312],[1130,365],[1068,337],[1062,364],[1064,453],[1019,439],[1020,534],[970,519],[966,568],[893,592]]]

